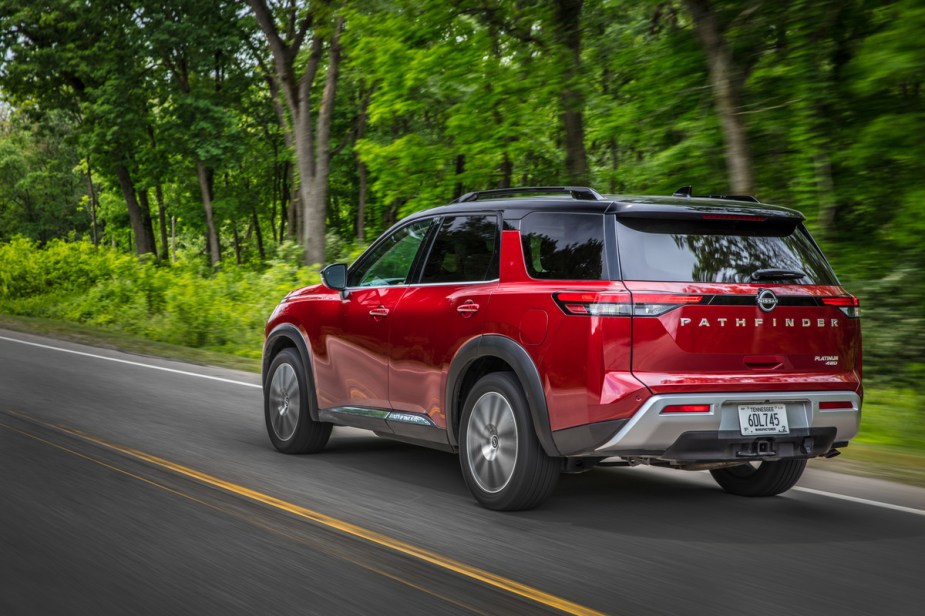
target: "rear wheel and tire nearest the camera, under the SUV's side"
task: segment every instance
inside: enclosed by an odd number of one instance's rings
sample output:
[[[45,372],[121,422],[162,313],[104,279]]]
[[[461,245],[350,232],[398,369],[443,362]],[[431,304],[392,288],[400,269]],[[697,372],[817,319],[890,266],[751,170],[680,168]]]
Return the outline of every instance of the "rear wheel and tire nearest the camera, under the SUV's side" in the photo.
[[[560,460],[543,451],[512,373],[482,377],[466,397],[459,462],[469,491],[488,509],[532,509],[556,487]]]

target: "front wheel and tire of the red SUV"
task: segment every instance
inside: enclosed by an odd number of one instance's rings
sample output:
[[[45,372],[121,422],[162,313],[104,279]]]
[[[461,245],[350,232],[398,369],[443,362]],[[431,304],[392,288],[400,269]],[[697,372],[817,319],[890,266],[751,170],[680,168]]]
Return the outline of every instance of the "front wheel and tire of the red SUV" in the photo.
[[[283,453],[321,451],[331,436],[330,423],[311,418],[310,385],[295,349],[283,349],[273,358],[263,386],[263,411],[270,441]]]

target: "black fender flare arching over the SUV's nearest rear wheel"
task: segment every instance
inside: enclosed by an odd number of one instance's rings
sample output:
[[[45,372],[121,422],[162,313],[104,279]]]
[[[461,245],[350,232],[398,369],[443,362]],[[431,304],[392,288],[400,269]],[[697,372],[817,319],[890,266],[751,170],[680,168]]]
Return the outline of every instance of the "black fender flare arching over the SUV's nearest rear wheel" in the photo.
[[[506,336],[496,334],[486,334],[473,338],[459,349],[450,363],[446,380],[446,430],[450,444],[454,447],[459,446],[455,426],[456,419],[462,414],[462,405],[457,404],[456,401],[459,398],[463,379],[473,362],[483,357],[497,357],[513,368],[527,398],[534,431],[540,445],[548,455],[560,457],[562,454],[556,447],[556,443],[552,438],[552,430],[549,427],[549,408],[546,406],[543,381],[540,378],[539,370],[536,369],[536,364],[533,363],[533,359],[526,349],[517,342]]]

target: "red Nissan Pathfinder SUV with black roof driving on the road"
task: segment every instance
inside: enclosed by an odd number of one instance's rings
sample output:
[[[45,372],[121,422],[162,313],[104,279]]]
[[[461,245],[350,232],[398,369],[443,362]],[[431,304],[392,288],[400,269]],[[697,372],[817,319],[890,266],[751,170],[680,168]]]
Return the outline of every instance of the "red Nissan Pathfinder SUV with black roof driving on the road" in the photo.
[[[751,197],[464,195],[293,291],[266,328],[267,429],[458,452],[476,500],[543,501],[597,464],[792,487],[858,430],[858,301],[797,211]]]

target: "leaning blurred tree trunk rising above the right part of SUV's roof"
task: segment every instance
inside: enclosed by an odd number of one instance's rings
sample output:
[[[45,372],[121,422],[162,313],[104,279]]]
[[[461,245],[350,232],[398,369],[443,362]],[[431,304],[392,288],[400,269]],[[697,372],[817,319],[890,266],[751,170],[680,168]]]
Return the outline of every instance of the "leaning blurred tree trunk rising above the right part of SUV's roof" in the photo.
[[[739,86],[732,52],[726,44],[710,0],[684,0],[694,19],[694,27],[703,45],[710,70],[710,84],[716,101],[723,140],[726,145],[726,168],[730,192],[751,195],[755,191],[748,135],[739,115]]]

